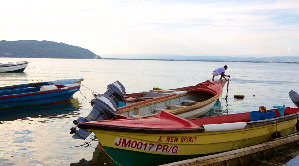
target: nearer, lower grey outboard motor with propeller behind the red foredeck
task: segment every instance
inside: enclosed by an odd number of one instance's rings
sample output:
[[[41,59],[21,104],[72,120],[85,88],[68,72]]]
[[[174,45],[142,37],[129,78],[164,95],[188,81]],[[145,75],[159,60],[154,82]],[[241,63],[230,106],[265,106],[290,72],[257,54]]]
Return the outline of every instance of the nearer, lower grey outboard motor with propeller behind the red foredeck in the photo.
[[[77,124],[80,122],[106,120],[107,118],[115,119],[114,115],[118,109],[115,102],[107,95],[98,95],[92,100],[91,106],[93,108],[87,117],[79,117],[77,120],[73,121],[73,123],[76,125],[76,127],[71,128],[70,132],[70,134],[75,133],[72,136],[73,138],[85,140],[89,134],[91,134],[91,132],[87,131],[86,129],[77,130]]]

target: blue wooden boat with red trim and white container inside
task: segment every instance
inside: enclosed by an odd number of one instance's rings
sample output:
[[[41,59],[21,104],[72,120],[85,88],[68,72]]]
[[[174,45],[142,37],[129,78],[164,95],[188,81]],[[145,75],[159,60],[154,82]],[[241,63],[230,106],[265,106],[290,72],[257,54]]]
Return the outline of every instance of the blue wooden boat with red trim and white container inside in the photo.
[[[0,87],[0,109],[67,101],[80,90],[83,80],[64,79]]]

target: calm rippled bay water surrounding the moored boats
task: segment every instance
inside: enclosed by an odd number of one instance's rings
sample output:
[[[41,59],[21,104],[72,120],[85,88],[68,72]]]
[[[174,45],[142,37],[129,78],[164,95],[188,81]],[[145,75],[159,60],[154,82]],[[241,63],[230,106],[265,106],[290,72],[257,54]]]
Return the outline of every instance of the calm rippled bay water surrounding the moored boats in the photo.
[[[97,150],[98,142],[91,141],[92,136],[75,140],[69,132],[73,120],[91,111],[92,93],[106,92],[107,85],[116,80],[127,93],[154,86],[172,89],[211,80],[215,68],[228,65],[228,92],[226,84],[218,105],[205,116],[255,111],[259,106],[295,107],[288,92],[299,92],[298,64],[0,58],[0,62],[22,60],[32,63],[24,73],[0,73],[0,86],[84,78],[83,86],[71,102],[1,110],[0,165],[112,165],[109,157]],[[227,100],[223,99],[226,93]],[[245,95],[245,99],[234,99],[234,95]],[[90,142],[89,146],[80,146],[85,142]],[[286,158],[276,161],[273,157],[265,163],[298,165],[297,151]]]

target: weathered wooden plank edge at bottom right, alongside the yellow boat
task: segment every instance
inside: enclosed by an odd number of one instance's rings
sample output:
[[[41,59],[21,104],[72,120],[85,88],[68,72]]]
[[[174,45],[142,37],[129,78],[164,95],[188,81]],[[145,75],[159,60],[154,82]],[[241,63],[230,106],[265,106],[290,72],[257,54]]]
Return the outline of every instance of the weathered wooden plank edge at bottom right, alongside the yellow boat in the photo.
[[[299,133],[291,134],[286,137],[277,138],[273,141],[262,144],[241,148],[233,151],[227,151],[219,154],[198,157],[194,159],[183,160],[165,164],[163,166],[181,166],[181,165],[227,165],[238,166],[257,161],[264,156],[274,154],[286,149],[299,147]]]

